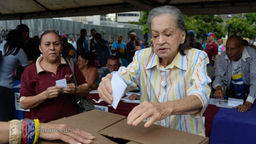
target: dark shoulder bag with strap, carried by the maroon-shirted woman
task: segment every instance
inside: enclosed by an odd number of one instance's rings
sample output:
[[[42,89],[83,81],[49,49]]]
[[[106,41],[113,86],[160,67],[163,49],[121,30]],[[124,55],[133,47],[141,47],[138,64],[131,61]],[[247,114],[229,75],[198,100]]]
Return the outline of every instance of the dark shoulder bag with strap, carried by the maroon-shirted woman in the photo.
[[[74,84],[76,86],[76,79],[75,79],[75,75],[74,75],[74,62],[72,59],[67,59],[67,62],[71,68],[71,71],[73,73],[73,78],[74,78]],[[77,105],[77,111],[78,113],[83,113],[86,111],[91,111],[94,110],[94,104],[86,97],[80,97],[79,95],[75,95],[75,99],[76,99],[76,105]]]

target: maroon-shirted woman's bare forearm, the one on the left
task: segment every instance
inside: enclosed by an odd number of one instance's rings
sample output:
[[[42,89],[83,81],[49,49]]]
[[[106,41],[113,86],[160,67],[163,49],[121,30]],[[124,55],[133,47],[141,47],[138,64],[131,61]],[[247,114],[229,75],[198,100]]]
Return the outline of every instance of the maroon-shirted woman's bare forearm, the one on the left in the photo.
[[[45,92],[45,91],[44,91]],[[20,101],[20,106],[24,109],[33,109],[44,102],[47,97],[44,95],[44,92],[41,92],[38,95],[32,97],[25,97],[23,100]],[[22,99],[21,97],[20,99]]]

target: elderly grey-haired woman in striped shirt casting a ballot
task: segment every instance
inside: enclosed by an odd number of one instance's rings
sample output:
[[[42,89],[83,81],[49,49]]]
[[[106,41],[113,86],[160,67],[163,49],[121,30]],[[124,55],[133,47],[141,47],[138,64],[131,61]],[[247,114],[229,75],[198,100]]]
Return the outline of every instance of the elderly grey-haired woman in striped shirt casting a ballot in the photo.
[[[157,7],[148,15],[153,47],[137,51],[133,62],[117,73],[128,85],[127,91],[141,90],[141,105],[128,115],[128,124],[145,127],[158,124],[205,136],[205,111],[211,82],[206,73],[207,54],[189,47],[189,35],[181,11],[172,6]],[[111,104],[110,80],[102,79],[100,97]]]

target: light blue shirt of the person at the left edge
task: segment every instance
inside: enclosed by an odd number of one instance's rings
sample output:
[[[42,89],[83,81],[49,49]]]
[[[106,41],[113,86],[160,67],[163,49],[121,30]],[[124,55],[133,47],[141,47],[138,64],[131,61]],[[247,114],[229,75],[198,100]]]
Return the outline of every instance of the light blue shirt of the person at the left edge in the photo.
[[[18,67],[19,63],[22,66],[26,66],[29,65],[29,62],[23,49],[20,49],[15,56],[12,54],[4,56],[4,46],[6,42],[7,41],[4,40],[0,44],[0,51],[2,51],[2,57],[0,58],[0,85],[12,89],[13,73],[15,69]]]

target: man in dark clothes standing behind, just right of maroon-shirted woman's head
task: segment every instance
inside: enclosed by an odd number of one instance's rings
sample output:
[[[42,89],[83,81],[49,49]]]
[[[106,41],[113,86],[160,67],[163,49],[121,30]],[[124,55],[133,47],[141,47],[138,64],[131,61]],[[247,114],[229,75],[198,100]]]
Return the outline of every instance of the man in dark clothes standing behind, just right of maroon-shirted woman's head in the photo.
[[[82,53],[82,52],[89,52],[89,49],[88,49],[88,41],[86,39],[86,35],[87,35],[87,31],[85,28],[82,28],[81,31],[80,31],[80,38],[77,39],[77,42],[76,42],[76,59],[79,57],[79,55]]]

